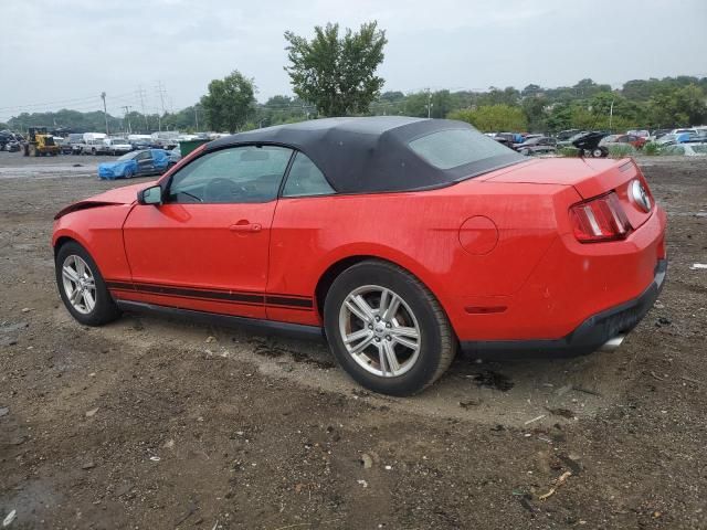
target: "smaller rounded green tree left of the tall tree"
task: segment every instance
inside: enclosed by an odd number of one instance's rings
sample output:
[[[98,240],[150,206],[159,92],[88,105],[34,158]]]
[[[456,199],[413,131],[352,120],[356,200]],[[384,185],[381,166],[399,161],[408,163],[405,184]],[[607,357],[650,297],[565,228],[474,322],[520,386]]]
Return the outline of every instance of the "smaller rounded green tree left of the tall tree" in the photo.
[[[223,80],[209,83],[209,93],[201,97],[207,123],[213,130],[235,132],[247,121],[255,104],[253,80],[234,70]]]

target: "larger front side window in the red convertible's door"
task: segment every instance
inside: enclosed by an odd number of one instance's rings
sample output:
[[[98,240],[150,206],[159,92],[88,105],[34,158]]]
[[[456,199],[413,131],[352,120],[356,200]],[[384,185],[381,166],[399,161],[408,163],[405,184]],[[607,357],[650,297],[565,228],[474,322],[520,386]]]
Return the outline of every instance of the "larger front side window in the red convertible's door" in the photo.
[[[268,202],[277,190],[292,149],[276,146],[231,147],[203,155],[171,179],[167,202]]]

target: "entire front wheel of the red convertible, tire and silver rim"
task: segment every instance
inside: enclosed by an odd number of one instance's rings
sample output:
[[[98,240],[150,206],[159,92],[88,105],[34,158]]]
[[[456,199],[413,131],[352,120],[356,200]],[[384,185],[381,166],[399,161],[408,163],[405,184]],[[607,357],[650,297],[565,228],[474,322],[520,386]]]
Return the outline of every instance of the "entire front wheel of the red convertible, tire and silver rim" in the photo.
[[[68,312],[86,326],[101,326],[120,315],[91,254],[68,242],[56,253],[56,284]]]

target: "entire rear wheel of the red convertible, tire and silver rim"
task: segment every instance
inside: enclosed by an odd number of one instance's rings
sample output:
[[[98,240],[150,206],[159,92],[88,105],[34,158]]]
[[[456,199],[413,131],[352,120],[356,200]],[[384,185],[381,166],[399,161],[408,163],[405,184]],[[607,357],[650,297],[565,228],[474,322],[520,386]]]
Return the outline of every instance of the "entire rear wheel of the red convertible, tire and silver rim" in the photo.
[[[341,273],[324,306],[329,347],[361,385],[411,395],[436,381],[456,353],[439,301],[407,271],[366,261]]]

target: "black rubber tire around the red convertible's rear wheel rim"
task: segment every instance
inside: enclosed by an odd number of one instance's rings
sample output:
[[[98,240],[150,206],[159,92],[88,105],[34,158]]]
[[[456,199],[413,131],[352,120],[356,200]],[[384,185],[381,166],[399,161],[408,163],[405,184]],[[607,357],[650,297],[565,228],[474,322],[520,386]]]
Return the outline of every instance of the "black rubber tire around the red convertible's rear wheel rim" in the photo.
[[[342,305],[349,294],[363,286],[390,289],[404,300],[416,319],[419,353],[411,368],[400,375],[371,373],[355,360],[344,343],[339,328]],[[446,371],[456,354],[456,337],[434,295],[412,274],[387,262],[367,259],[344,271],[326,295],[324,324],[329,348],[340,367],[362,386],[382,394],[412,395],[421,392]],[[372,328],[369,326],[369,329]],[[380,338],[377,340],[381,342]],[[371,346],[376,347],[374,343]],[[374,350],[371,357],[376,357]]]

